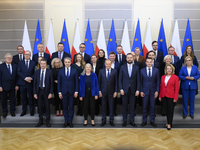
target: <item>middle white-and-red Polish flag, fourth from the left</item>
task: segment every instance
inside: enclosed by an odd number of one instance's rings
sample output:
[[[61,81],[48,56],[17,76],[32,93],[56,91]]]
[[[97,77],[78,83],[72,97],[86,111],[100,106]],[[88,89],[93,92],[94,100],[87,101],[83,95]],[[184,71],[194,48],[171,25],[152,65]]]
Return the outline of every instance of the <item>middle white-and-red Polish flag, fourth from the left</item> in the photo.
[[[105,40],[105,34],[104,34],[103,21],[102,20],[100,22],[99,35],[98,35],[98,39],[97,39],[95,55],[98,55],[98,52],[99,52],[100,49],[103,49],[105,51],[105,58],[108,58],[107,48],[106,48],[106,40]]]

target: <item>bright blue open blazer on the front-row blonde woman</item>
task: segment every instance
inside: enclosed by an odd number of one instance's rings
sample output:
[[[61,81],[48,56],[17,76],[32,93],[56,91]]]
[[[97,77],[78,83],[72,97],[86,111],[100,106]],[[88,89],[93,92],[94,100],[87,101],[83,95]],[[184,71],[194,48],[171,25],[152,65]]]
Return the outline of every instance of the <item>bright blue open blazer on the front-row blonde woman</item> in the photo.
[[[80,76],[79,97],[85,97],[85,76],[85,74]],[[92,96],[99,96],[98,79],[93,72],[91,72],[91,94]]]

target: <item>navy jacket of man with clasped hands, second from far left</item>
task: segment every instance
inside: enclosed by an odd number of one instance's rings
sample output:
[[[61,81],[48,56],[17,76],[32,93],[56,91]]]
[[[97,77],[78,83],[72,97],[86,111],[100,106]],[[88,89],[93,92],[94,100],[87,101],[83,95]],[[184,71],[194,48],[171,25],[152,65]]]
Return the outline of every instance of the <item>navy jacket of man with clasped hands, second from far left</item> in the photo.
[[[34,79],[34,73],[35,73],[35,62],[30,60],[29,62],[29,68],[27,69],[25,61],[20,61],[17,67],[17,74],[19,76],[19,85],[25,85],[26,82],[24,79],[26,77],[31,77]],[[33,80],[32,80],[33,82]]]

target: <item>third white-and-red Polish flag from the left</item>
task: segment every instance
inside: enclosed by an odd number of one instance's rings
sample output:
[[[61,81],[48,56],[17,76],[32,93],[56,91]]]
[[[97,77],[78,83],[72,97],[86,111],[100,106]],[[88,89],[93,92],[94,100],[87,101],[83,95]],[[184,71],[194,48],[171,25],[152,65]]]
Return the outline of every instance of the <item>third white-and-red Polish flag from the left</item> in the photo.
[[[75,30],[75,35],[74,35],[74,42],[72,46],[72,52],[71,52],[71,59],[73,62],[74,55],[80,52],[79,50],[79,45],[81,44],[81,36],[80,36],[80,31],[79,31],[79,25],[78,25],[78,20],[76,23],[76,30]]]

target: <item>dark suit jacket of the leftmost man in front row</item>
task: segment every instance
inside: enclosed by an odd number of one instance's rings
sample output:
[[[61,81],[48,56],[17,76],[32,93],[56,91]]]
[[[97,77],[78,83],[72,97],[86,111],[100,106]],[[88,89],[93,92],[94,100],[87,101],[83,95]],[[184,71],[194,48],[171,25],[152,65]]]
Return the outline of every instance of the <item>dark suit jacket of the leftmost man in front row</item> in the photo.
[[[39,92],[39,86],[40,86],[40,73],[41,73],[41,69],[38,69],[35,71],[35,75],[34,75],[34,85],[33,85],[33,93],[38,95]],[[45,93],[47,94],[47,96],[49,94],[53,93],[53,75],[52,75],[52,71],[49,69],[46,69],[46,74],[45,74]]]

